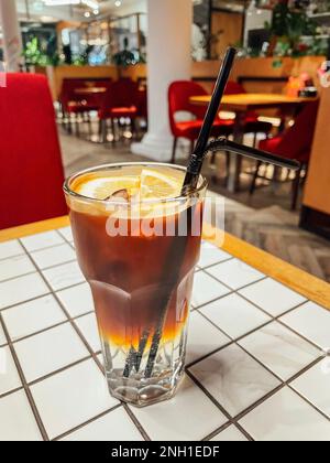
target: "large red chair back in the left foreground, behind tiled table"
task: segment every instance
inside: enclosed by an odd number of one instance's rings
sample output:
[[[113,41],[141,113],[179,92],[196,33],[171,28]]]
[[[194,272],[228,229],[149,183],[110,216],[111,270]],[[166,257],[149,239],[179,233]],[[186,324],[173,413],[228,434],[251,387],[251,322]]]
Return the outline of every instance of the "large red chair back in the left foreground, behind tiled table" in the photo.
[[[8,74],[0,88],[0,228],[67,214],[55,111],[46,77]]]

